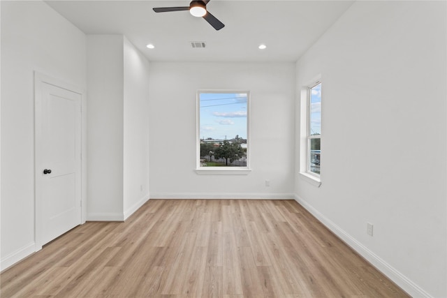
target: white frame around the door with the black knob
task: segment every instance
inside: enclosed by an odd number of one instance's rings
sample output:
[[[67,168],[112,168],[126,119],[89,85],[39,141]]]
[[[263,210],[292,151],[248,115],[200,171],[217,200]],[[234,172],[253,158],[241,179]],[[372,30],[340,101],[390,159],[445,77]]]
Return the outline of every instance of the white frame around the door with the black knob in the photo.
[[[34,71],[34,243],[35,251],[42,249],[42,191],[41,185],[38,183],[38,177],[41,176],[41,142],[42,142],[42,128],[41,120],[43,119],[42,111],[40,109],[43,98],[43,84],[50,84],[61,89],[80,94],[81,96],[81,218],[80,223],[86,221],[87,216],[87,119],[86,119],[86,91],[81,87],[69,84],[64,80],[59,80],[50,77],[43,73]]]

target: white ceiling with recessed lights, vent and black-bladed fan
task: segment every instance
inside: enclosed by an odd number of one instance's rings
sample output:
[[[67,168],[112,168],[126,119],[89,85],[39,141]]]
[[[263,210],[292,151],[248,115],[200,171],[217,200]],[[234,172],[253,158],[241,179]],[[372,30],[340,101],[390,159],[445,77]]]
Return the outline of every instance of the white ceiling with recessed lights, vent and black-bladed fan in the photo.
[[[46,1],[87,34],[124,34],[149,61],[296,61],[353,3],[350,1],[211,0],[216,31],[188,11],[154,13],[183,1]],[[205,41],[206,48],[192,48]],[[155,45],[153,50],[146,45]],[[266,50],[258,50],[265,43]]]

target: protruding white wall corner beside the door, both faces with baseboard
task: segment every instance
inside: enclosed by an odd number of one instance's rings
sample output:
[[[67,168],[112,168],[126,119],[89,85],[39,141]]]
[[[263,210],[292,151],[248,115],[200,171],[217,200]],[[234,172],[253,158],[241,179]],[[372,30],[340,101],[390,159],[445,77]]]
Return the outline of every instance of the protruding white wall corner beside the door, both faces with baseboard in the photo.
[[[120,34],[87,53],[87,219],[123,221],[149,199],[149,62]]]

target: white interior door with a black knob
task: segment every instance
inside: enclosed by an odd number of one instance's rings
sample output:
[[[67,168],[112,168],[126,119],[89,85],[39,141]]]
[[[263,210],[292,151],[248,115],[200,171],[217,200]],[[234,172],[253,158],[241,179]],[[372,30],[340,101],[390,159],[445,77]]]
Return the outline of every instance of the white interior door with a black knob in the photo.
[[[36,82],[36,244],[81,223],[81,94]]]

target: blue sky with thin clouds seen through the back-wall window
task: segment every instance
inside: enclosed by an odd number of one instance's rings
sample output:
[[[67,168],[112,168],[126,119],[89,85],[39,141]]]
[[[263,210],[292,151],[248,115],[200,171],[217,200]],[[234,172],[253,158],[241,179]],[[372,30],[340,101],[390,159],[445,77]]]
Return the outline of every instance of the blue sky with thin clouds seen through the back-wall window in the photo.
[[[247,138],[247,94],[200,93],[200,139]]]

